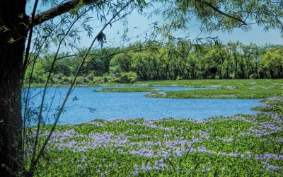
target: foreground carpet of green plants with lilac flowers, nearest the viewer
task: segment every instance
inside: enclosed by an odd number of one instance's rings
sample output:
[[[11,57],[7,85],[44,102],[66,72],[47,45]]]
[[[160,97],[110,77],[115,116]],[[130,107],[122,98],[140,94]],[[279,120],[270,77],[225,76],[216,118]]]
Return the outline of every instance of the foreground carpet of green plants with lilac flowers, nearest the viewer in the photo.
[[[272,100],[283,103],[270,98],[270,108]],[[38,176],[282,176],[283,111],[270,110],[58,126]]]

